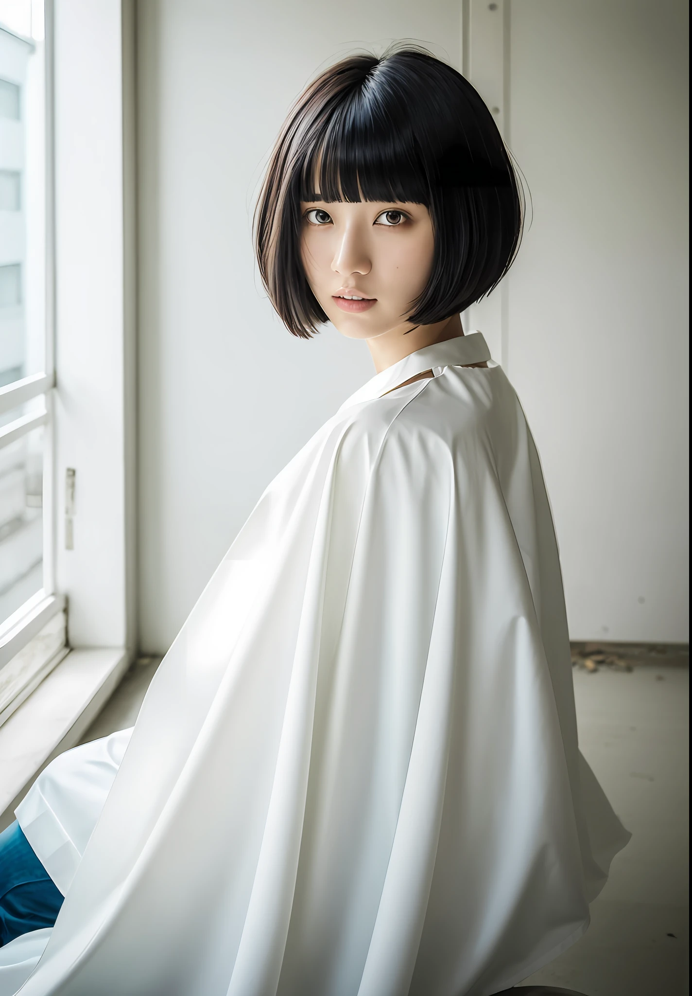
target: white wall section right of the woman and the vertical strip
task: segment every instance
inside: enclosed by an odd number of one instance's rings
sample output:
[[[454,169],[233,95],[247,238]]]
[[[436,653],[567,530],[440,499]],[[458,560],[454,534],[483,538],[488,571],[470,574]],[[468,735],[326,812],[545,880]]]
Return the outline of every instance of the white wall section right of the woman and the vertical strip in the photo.
[[[503,363],[543,458],[577,639],[689,639],[687,11],[511,8],[509,138],[534,221]]]

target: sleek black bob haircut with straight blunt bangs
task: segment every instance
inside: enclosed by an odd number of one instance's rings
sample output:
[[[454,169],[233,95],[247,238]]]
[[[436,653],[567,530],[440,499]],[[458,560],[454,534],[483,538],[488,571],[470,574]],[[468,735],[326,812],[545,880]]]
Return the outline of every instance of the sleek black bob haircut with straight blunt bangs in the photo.
[[[301,201],[316,199],[428,208],[434,256],[412,302],[415,325],[492,291],[521,241],[522,188],[493,116],[460,73],[413,47],[332,66],[298,99],[272,152],[255,212],[257,258],[274,308],[302,339],[328,321],[301,261]]]

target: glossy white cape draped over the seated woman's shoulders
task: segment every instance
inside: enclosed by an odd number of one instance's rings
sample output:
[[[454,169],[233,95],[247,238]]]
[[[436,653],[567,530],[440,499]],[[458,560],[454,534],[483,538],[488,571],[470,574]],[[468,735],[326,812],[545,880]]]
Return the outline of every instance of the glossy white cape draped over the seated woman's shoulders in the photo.
[[[407,357],[269,486],[22,996],[488,996],[583,931],[628,835],[577,749],[531,433],[464,366],[488,359]]]

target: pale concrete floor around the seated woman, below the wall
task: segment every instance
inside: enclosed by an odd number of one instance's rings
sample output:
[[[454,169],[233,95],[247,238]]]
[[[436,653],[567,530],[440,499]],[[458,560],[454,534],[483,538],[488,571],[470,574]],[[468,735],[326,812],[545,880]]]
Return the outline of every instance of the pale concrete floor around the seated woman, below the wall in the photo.
[[[157,663],[134,665],[83,742],[134,723]],[[632,840],[586,934],[523,985],[686,996],[689,670],[637,662],[574,675],[581,750]]]

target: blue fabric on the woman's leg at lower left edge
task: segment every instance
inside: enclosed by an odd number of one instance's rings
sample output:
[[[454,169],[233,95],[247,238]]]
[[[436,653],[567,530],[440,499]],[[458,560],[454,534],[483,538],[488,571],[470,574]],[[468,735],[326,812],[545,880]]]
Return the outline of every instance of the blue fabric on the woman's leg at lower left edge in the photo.
[[[15,820],[0,834],[0,947],[30,930],[52,927],[63,894]]]

